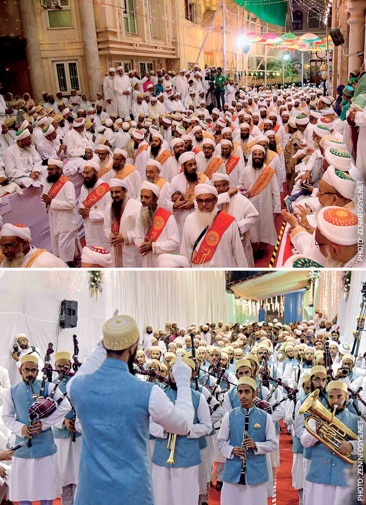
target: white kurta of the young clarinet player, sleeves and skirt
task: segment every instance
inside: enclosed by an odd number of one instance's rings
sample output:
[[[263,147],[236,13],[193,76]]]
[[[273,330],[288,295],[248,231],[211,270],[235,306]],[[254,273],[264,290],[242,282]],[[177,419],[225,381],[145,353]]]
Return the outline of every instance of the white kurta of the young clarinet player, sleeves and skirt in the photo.
[[[250,409],[251,410],[251,409]],[[232,449],[230,445],[230,418],[229,413],[224,415],[221,428],[217,437],[217,446],[225,456],[226,459],[232,459]],[[266,454],[273,452],[278,448],[278,441],[271,416],[267,414],[266,421],[266,441],[256,442],[256,454]],[[249,449],[253,450],[253,449]],[[248,482],[246,473],[246,482]],[[247,484],[242,486],[240,484],[232,484],[224,482],[221,490],[221,505],[231,505],[236,503],[238,505],[248,505],[248,503],[256,503],[258,505],[267,505],[267,486],[266,482],[262,484]]]

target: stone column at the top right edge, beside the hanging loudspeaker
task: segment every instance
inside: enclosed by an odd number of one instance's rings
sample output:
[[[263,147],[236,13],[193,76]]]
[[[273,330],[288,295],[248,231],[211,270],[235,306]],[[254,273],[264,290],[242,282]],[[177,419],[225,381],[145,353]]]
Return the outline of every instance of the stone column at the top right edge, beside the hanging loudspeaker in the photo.
[[[348,54],[348,73],[359,69],[361,60],[357,56],[357,51],[364,49],[365,30],[363,27],[365,21],[366,4],[364,0],[350,0],[347,8],[350,16],[349,24],[349,54]]]

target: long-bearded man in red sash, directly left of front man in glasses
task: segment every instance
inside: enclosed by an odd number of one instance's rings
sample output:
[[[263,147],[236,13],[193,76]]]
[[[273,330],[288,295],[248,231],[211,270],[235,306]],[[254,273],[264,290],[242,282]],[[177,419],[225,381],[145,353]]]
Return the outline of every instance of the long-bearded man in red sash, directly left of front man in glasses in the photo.
[[[180,243],[174,216],[158,206],[159,196],[156,184],[142,183],[142,209],[136,219],[134,240],[143,257],[143,267],[156,267],[157,257],[164,252],[175,252]]]

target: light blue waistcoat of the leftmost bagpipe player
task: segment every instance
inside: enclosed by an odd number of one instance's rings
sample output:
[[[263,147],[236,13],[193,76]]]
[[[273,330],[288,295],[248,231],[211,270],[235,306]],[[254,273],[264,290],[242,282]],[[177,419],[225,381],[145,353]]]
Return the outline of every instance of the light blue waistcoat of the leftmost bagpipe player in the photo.
[[[49,382],[46,382],[43,393],[44,397],[48,395],[48,384]],[[36,379],[33,382],[33,389],[34,392],[38,395],[40,388],[41,381]],[[17,414],[17,421],[29,426],[30,422],[28,409],[33,403],[32,393],[29,385],[22,381],[15,386],[11,386],[10,389],[15,406],[15,412]],[[15,445],[18,445],[20,442],[24,442],[24,440],[28,442],[27,438],[21,438],[17,435],[15,439]],[[31,447],[21,447],[14,453],[13,458],[24,458],[32,460],[43,458],[44,456],[50,456],[51,454],[55,454],[55,452],[57,452],[57,447],[53,440],[52,430],[51,428],[47,428],[46,430],[38,433],[38,435],[32,435]]]

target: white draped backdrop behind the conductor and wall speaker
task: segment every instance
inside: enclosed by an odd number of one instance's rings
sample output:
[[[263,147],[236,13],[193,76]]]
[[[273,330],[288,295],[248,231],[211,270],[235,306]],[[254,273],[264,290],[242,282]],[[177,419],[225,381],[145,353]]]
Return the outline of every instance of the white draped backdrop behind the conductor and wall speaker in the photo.
[[[224,271],[105,271],[97,301],[90,297],[88,279],[87,271],[0,272],[0,365],[9,370],[12,384],[20,378],[10,357],[19,333],[40,348],[42,357],[48,342],[54,350],[72,353],[76,333],[83,362],[115,309],[134,317],[140,333],[147,325],[163,329],[167,321],[188,328],[226,320]],[[63,299],[78,301],[77,328],[59,327]]]

